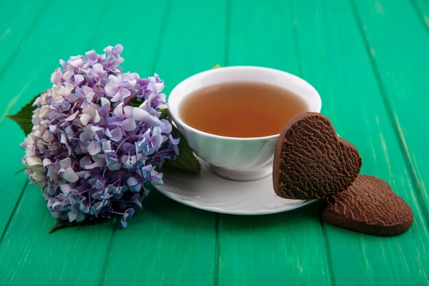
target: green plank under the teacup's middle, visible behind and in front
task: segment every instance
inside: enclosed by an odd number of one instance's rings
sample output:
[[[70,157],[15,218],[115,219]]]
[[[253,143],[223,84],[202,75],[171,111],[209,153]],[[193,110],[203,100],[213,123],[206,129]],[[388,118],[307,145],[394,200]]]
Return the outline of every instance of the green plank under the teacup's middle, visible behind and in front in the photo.
[[[229,41],[228,65],[299,75],[291,11],[284,1],[232,1]],[[317,204],[275,215],[221,215],[219,246],[219,285],[330,285]]]

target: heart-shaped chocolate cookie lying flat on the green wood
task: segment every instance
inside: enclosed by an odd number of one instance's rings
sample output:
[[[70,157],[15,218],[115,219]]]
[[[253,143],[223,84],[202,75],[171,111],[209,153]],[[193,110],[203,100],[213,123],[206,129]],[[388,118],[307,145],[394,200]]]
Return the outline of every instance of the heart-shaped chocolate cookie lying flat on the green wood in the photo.
[[[360,175],[347,190],[326,199],[321,218],[341,228],[389,237],[408,230],[414,215],[387,182]]]

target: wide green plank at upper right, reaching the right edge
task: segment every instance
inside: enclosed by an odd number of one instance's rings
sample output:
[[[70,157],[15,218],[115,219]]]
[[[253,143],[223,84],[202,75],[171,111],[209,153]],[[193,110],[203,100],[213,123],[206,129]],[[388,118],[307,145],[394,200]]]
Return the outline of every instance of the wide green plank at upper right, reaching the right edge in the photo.
[[[367,27],[363,29],[367,49],[377,67],[384,101],[391,109],[391,119],[402,141],[402,152],[412,169],[411,179],[424,205],[426,219],[429,219],[429,191],[426,189],[429,152],[425,140],[429,139],[429,128],[421,128],[429,122],[429,112],[424,108],[429,104],[428,30],[421,25],[408,1],[395,5],[387,1],[378,1],[377,5],[358,1],[356,10],[358,19]],[[407,21],[398,23],[398,17]],[[397,40],[398,37],[401,40]]]

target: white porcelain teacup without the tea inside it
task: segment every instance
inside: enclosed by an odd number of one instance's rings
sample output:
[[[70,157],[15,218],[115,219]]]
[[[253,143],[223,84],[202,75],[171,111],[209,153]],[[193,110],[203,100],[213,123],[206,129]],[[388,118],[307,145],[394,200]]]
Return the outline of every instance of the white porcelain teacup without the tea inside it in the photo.
[[[308,111],[320,112],[319,93],[308,82],[291,73],[265,67],[211,69],[177,84],[169,95],[169,113],[195,154],[217,174],[232,180],[258,180],[272,173],[273,155],[279,134],[236,138],[209,134],[188,126],[180,118],[180,104],[194,91],[227,82],[272,84],[304,99]],[[285,122],[286,124],[286,122]]]

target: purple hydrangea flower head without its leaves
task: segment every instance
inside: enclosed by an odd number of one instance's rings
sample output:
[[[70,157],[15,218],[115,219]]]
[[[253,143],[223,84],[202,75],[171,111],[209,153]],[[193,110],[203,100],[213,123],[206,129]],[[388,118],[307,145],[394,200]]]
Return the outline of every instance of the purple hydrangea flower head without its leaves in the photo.
[[[149,191],[145,183],[162,184],[159,167],[178,154],[171,123],[160,119],[164,82],[123,73],[122,50],[109,46],[107,56],[88,51],[60,60],[52,88],[34,102],[23,163],[54,218],[116,214],[127,226]]]

